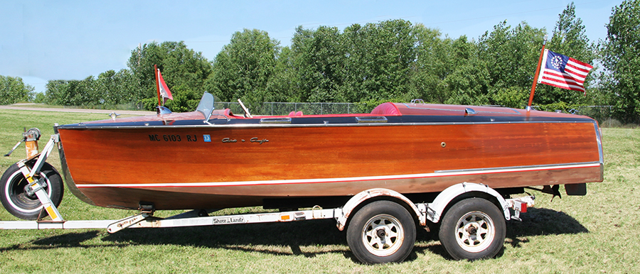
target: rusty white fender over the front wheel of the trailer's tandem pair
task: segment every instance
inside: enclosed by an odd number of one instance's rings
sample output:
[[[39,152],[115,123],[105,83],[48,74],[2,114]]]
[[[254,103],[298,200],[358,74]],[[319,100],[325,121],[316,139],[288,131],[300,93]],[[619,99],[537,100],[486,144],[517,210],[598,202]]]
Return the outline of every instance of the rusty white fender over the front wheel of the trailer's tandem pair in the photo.
[[[420,209],[418,209],[418,207],[415,204],[413,204],[413,202],[411,202],[410,199],[408,199],[407,197],[405,197],[404,195],[398,192],[395,192],[393,190],[387,190],[385,188],[373,188],[373,189],[365,190],[363,192],[356,194],[355,196],[351,197],[351,199],[349,199],[348,202],[346,202],[346,204],[344,204],[344,207],[342,207],[341,216],[338,216],[336,218],[338,221],[338,224],[337,224],[338,229],[340,231],[343,231],[343,229],[346,226],[347,220],[351,216],[351,213],[353,213],[353,209],[356,209],[356,207],[358,207],[359,204],[373,197],[380,197],[380,196],[393,197],[395,199],[399,199],[400,201],[404,202],[407,205],[407,207],[412,209],[412,211],[410,210],[410,212],[413,212],[413,214],[415,214],[415,216],[418,217],[418,220],[420,221],[420,225],[422,226],[427,225],[426,207],[421,211]]]

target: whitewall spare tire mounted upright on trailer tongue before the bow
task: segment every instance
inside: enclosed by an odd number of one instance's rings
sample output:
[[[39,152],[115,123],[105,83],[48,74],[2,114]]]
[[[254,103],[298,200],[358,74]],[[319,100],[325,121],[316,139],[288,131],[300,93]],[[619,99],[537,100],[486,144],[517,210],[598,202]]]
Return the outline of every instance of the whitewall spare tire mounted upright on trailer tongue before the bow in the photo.
[[[60,205],[63,198],[63,181],[58,170],[52,165],[44,163],[40,170],[40,176],[45,178],[47,186],[45,190],[56,207]],[[36,194],[29,195],[25,191],[28,185],[27,180],[18,168],[17,164],[11,165],[4,172],[0,179],[0,202],[12,215],[20,219],[35,220],[43,212],[43,216],[47,216],[47,212],[42,209],[42,204]]]

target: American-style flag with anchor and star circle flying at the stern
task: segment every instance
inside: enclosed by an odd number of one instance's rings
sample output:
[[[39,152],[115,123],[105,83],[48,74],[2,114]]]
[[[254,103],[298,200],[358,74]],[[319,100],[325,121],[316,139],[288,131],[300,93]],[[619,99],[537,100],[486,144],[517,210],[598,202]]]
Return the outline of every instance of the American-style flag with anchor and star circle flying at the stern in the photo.
[[[545,50],[542,62],[538,83],[585,92],[585,78],[592,65],[551,50]]]

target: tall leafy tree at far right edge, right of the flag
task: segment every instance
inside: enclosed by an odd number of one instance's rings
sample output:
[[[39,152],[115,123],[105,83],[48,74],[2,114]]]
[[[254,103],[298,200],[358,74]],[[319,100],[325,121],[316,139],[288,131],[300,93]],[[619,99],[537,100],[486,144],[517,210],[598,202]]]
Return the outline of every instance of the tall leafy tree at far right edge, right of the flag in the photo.
[[[640,122],[640,0],[612,9],[607,38],[600,45],[602,84],[624,122]]]

